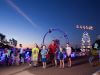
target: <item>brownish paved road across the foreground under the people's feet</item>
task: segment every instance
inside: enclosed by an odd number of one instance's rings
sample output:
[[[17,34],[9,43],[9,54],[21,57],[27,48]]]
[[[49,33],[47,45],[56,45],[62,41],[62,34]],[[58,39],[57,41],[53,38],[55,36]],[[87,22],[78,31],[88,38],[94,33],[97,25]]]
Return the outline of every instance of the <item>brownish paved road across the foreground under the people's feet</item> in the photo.
[[[42,66],[34,68],[27,64],[20,66],[6,66],[0,67],[0,75],[92,75],[100,69],[100,65],[91,66],[84,59],[75,60],[71,68],[60,69],[59,67],[51,67],[48,65],[47,69],[42,69]]]

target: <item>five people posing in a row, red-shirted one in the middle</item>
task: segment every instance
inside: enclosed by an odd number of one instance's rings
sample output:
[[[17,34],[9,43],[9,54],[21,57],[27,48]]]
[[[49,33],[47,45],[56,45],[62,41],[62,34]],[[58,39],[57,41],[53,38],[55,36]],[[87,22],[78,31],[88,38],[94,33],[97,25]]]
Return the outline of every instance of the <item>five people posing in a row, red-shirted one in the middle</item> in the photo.
[[[54,43],[52,43],[53,45]],[[40,50],[41,55],[41,61],[43,64],[43,68],[46,68],[47,61],[51,61],[51,64],[54,64],[55,66],[60,64],[60,68],[64,68],[64,62],[68,59],[68,67],[71,67],[71,47],[69,44],[66,44],[66,47],[63,48],[61,46],[59,47],[53,47],[55,48],[54,53],[51,53],[51,49],[47,48],[46,45],[43,45]],[[32,49],[32,61],[34,63],[34,66],[37,66],[38,64],[38,55],[39,55],[39,48],[37,45],[35,48]]]

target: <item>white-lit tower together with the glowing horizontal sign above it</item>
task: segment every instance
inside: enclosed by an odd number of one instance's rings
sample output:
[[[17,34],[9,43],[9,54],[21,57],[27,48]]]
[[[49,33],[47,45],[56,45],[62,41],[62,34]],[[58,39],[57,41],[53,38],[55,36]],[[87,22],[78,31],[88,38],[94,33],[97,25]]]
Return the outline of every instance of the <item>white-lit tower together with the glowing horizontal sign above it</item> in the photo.
[[[85,30],[82,36],[82,40],[81,40],[81,48],[82,50],[84,49],[90,49],[91,48],[91,39],[90,36],[87,32],[87,30],[94,30],[93,26],[87,26],[87,25],[76,25],[77,29],[80,30]]]

